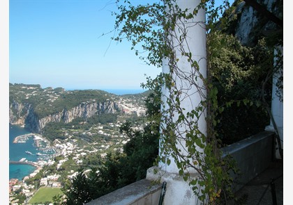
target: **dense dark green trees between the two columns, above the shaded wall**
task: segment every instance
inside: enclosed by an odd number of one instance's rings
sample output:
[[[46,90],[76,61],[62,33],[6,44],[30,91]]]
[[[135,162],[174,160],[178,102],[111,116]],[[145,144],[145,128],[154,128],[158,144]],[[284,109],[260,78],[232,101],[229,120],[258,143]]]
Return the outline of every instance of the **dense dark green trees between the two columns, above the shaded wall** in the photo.
[[[273,50],[264,40],[244,47],[233,35],[219,32],[208,35],[208,44],[212,83],[218,90],[218,104],[225,107],[215,129],[223,145],[231,145],[269,124],[262,93],[271,101],[271,83],[263,88],[262,81],[273,69]]]

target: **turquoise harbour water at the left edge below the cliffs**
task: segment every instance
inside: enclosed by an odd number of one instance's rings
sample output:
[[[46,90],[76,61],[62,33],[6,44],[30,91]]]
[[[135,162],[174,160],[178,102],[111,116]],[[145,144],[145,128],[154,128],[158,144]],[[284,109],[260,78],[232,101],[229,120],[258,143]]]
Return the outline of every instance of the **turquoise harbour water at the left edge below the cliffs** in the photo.
[[[21,158],[27,158],[28,161],[37,161],[36,155],[27,154],[25,151],[30,151],[32,154],[36,154],[36,147],[33,147],[33,138],[29,138],[25,143],[13,143],[13,140],[17,136],[30,133],[29,130],[20,126],[9,124],[9,160],[20,161]],[[36,167],[32,165],[20,165],[9,164],[9,179],[22,180],[25,176],[31,174]]]

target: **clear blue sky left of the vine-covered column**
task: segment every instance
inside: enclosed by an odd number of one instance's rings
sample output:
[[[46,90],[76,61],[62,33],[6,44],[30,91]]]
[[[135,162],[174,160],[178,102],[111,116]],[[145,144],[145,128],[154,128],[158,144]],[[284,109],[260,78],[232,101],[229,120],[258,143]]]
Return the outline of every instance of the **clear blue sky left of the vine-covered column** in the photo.
[[[141,89],[144,74],[160,73],[138,59],[129,42],[103,35],[114,28],[114,1],[10,0],[9,8],[10,83]]]

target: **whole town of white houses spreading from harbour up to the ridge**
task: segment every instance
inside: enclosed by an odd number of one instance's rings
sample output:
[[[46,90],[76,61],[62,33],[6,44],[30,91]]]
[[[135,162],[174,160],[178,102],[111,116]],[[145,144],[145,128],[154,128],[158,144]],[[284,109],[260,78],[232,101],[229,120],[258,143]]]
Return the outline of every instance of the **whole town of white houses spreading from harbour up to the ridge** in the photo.
[[[25,87],[27,90],[35,88]],[[31,97],[28,94],[26,98]],[[53,93],[51,93],[53,95]],[[55,99],[58,95],[51,96]],[[29,204],[29,200],[40,187],[63,188],[66,180],[76,176],[80,167],[84,173],[90,171],[91,165],[99,166],[108,153],[112,151],[123,151],[123,145],[129,138],[119,132],[121,125],[133,117],[144,117],[146,108],[144,100],[146,97],[135,99],[128,96],[117,96],[117,104],[120,109],[117,122],[107,124],[95,124],[87,130],[62,129],[64,139],[47,140],[40,134],[30,133],[15,138],[15,143],[25,143],[30,137],[34,139],[34,146],[40,152],[38,161],[28,161],[26,158],[19,162],[33,165],[36,169],[22,180],[10,179],[9,202],[12,205]],[[140,121],[137,121],[140,122]],[[133,130],[142,130],[146,122],[133,124]],[[87,138],[95,136],[94,141]]]

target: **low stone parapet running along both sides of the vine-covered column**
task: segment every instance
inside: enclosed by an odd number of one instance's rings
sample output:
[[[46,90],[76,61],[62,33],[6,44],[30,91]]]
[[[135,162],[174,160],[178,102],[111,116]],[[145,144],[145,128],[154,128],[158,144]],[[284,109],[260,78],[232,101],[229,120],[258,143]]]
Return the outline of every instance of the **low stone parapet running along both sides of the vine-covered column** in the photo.
[[[227,154],[233,156],[241,171],[240,177],[232,174],[235,192],[269,167],[274,156],[273,136],[273,132],[264,131],[222,149],[223,157]],[[151,167],[148,171],[153,169]],[[94,199],[87,205],[158,205],[161,190],[162,184],[153,185],[151,180],[143,179]]]

